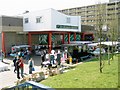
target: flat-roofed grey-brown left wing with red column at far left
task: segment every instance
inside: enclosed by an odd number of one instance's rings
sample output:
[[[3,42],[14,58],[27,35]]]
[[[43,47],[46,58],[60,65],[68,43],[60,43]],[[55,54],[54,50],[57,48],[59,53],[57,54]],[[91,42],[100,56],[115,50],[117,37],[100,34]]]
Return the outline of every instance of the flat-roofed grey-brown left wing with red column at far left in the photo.
[[[12,45],[27,43],[24,35],[22,17],[0,16],[0,50],[5,54],[11,51]]]

